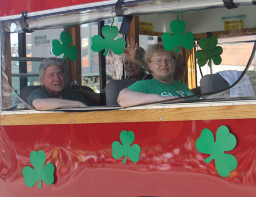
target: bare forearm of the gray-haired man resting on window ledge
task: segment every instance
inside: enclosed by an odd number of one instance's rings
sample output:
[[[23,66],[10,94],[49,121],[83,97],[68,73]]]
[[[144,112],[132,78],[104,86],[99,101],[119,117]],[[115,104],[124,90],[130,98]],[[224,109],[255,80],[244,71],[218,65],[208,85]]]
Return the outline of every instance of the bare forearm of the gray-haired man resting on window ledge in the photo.
[[[86,107],[86,104],[76,100],[44,98],[33,100],[32,106],[35,107],[36,110],[48,111],[55,110],[57,108]]]

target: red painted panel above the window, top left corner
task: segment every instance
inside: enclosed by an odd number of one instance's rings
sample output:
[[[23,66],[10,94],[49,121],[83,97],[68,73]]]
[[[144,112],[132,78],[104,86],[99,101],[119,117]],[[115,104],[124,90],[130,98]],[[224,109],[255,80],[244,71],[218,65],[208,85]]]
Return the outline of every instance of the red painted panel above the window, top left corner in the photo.
[[[8,0],[0,1],[0,16],[21,14],[22,11],[36,12],[57,9],[60,7],[76,6],[86,3],[100,2],[106,0]]]

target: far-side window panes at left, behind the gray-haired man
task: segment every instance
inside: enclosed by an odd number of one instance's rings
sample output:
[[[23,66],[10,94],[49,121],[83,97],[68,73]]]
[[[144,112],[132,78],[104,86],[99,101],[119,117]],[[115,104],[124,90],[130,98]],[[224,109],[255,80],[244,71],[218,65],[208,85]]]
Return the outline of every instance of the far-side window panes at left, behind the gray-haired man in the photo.
[[[60,40],[60,33],[63,28],[56,30],[35,31],[26,33],[26,57],[55,57],[52,55],[52,41]],[[16,57],[12,64],[12,86],[15,92],[20,95],[20,90],[25,86],[40,85],[39,65],[41,61],[19,60],[19,39],[18,33],[11,34],[11,57]],[[58,56],[62,58],[63,55]],[[26,75],[27,74],[27,75]]]

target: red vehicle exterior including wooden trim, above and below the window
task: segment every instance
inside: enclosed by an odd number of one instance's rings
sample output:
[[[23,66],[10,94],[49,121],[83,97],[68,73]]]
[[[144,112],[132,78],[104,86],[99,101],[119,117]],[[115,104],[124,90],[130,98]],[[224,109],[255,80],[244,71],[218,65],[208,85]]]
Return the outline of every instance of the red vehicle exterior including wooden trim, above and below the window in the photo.
[[[0,19],[93,2],[97,1],[2,1]],[[1,88],[0,196],[256,196],[254,100],[9,112],[3,110],[6,87]],[[228,153],[238,165],[228,177],[221,177],[214,160],[204,161],[209,154],[196,148],[203,129],[210,129],[216,139],[221,125],[237,139]],[[123,164],[123,157],[112,156],[112,143],[120,141],[123,130],[134,132],[133,144],[141,147],[138,162],[127,158]],[[34,150],[43,150],[45,165],[51,162],[55,167],[51,185],[24,183],[22,170],[32,167]]]

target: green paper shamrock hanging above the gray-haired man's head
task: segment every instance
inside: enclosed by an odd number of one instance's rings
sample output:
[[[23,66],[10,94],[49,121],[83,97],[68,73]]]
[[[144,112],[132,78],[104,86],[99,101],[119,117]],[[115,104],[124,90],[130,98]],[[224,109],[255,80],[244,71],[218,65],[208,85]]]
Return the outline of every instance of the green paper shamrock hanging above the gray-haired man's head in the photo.
[[[66,55],[71,59],[71,61],[77,60],[77,48],[75,46],[69,47],[69,45],[72,43],[72,35],[68,32],[61,32],[60,33],[60,40],[53,40],[52,41],[52,53],[55,56],[60,56],[62,53],[64,53],[62,60],[64,61],[66,58]]]

